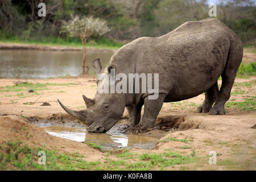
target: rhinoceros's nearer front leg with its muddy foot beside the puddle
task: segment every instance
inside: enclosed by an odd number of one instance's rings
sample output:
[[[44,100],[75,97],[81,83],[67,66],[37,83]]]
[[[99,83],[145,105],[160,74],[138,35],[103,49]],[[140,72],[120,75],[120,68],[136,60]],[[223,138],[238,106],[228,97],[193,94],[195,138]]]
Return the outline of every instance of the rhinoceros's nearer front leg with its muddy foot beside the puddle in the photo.
[[[158,117],[159,111],[163,106],[164,98],[166,98],[164,94],[159,94],[159,97],[156,100],[149,100],[148,97],[144,98],[144,114],[142,122],[135,127],[131,127],[130,131],[133,133],[142,133],[152,130],[155,119]]]

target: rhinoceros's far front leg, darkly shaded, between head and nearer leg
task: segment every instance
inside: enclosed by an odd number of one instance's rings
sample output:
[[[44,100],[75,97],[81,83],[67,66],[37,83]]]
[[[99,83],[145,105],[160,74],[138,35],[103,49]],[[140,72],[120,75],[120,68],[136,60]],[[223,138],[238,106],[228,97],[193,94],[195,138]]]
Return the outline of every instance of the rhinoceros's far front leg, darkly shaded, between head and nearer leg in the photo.
[[[130,126],[138,125],[138,123],[141,121],[141,107],[143,106],[143,103],[141,104],[133,104],[131,106],[126,106],[126,109],[129,113],[129,123]]]

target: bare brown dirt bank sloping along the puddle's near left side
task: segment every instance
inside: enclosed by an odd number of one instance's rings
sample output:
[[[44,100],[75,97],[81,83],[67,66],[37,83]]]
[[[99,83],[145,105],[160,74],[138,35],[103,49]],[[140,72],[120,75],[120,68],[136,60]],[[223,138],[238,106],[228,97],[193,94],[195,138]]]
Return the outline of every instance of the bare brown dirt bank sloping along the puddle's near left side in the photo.
[[[86,156],[86,160],[89,162],[98,160],[103,156],[102,152],[88,147],[85,143],[53,137],[41,127],[31,125],[23,117],[16,115],[1,116],[0,121],[1,144],[5,144],[9,139],[19,138],[19,140],[23,140],[24,144],[32,148],[46,146],[48,150],[57,150],[58,152],[77,152]]]

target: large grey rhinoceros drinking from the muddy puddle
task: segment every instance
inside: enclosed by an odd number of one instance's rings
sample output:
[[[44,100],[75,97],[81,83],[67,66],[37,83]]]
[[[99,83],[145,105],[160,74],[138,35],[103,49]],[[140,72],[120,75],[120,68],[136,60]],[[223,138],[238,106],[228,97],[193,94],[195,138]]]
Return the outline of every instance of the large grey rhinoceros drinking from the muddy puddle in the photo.
[[[115,73],[159,73],[157,100],[148,100],[148,93],[97,93],[93,100],[83,96],[86,110],[72,111],[60,104],[85,123],[88,131],[96,133],[113,127],[125,107],[131,126],[152,127],[163,102],[186,100],[201,93],[205,93],[205,100],[197,112],[225,114],[224,104],[229,100],[242,55],[240,38],[220,20],[208,18],[186,22],[158,38],[143,37],[126,44],[111,57],[104,70],[100,59],[93,61],[98,74],[108,73],[110,68],[115,69]],[[222,86],[219,90],[217,80],[220,76]],[[144,114],[139,124],[143,105]]]

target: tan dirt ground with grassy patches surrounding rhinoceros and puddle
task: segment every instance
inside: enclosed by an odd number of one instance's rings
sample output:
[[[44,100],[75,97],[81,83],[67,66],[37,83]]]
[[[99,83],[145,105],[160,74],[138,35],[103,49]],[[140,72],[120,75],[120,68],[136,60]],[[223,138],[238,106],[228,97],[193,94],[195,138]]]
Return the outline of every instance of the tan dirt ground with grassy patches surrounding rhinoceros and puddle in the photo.
[[[82,94],[93,98],[97,89],[95,81],[95,76],[1,78],[1,146],[7,146],[9,139],[22,139],[32,148],[45,146],[48,150],[57,150],[58,154],[75,152],[84,156],[82,160],[97,162],[95,168],[90,166],[87,169],[256,169],[256,130],[252,128],[256,124],[255,77],[236,79],[226,104],[226,115],[195,113],[196,106],[204,100],[204,94],[185,101],[164,103],[155,123],[160,124],[160,130],[144,134],[164,136],[153,150],[134,148],[102,153],[97,147],[53,137],[30,124],[36,119],[46,119],[56,125],[80,125],[76,119],[65,114],[57,98],[70,109],[85,109]],[[30,89],[34,92],[28,92]],[[42,106],[44,102],[49,105]],[[127,111],[123,118],[118,125],[127,124]],[[1,151],[5,152],[3,147]],[[210,151],[216,151],[216,165],[208,163]]]

